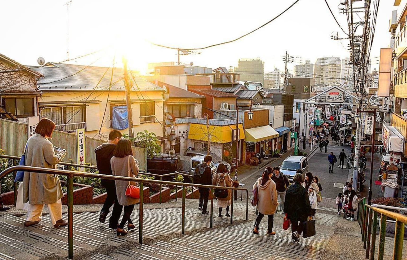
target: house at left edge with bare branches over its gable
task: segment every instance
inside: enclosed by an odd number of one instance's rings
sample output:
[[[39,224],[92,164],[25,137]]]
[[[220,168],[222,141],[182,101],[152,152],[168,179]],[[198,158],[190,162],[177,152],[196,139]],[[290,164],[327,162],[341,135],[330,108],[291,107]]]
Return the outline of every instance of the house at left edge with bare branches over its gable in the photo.
[[[39,113],[37,81],[42,74],[2,54],[0,71],[0,118],[27,123]]]

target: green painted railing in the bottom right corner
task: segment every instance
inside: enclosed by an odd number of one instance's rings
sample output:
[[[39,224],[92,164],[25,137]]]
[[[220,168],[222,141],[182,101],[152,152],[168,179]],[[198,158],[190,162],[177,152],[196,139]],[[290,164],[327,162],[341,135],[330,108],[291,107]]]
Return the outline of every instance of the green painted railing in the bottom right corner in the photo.
[[[379,205],[377,205],[379,206]],[[392,208],[392,207],[387,207]],[[363,248],[366,249],[366,258],[374,259],[376,250],[376,233],[378,221],[380,221],[379,231],[379,250],[377,252],[377,260],[383,260],[385,236],[386,236],[386,224],[389,222],[387,218],[392,218],[396,223],[396,230],[394,234],[394,247],[393,258],[394,260],[403,259],[403,241],[404,241],[404,226],[407,224],[407,216],[385,210],[383,208],[370,206],[366,204],[366,198],[359,201],[357,218],[359,226],[361,228]],[[380,214],[380,220],[378,215]],[[406,258],[404,258],[406,259]]]

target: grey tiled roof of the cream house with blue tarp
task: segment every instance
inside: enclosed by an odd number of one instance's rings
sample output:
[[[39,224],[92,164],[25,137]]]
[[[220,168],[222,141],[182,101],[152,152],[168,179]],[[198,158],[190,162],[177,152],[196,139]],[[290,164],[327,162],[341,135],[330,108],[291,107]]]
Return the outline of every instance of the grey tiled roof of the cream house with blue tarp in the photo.
[[[38,88],[42,91],[88,91],[93,90],[96,86],[96,91],[106,91],[109,89],[110,78],[112,76],[112,68],[66,63],[55,63],[38,68],[33,67],[32,70],[44,75],[44,77],[38,80]],[[112,91],[123,91],[125,89],[123,74],[122,68],[114,68]],[[137,76],[137,72],[129,72],[128,74],[129,79],[133,82],[133,90],[163,91],[157,85]],[[99,80],[101,82],[98,85]]]

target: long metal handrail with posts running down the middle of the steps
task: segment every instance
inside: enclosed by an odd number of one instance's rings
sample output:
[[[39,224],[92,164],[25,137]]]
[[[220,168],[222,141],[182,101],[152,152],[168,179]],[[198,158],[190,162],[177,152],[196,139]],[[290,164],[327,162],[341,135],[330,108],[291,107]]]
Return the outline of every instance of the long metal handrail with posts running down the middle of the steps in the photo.
[[[139,183],[140,186],[140,203],[139,203],[139,224],[138,224],[138,242],[140,244],[143,243],[143,186],[144,182],[149,183],[158,183],[158,184],[171,184],[171,185],[179,185],[182,186],[182,225],[181,225],[181,234],[185,234],[185,199],[186,199],[186,187],[192,186],[189,183],[183,182],[167,182],[162,180],[148,180],[148,179],[140,179],[140,178],[131,178],[131,177],[124,177],[124,176],[112,176],[112,175],[104,175],[99,173],[86,173],[81,171],[66,171],[66,170],[59,170],[59,169],[50,169],[50,168],[41,168],[41,167],[33,167],[33,166],[24,166],[24,165],[17,165],[12,166],[0,173],[0,179],[6,176],[11,172],[16,171],[28,171],[28,172],[35,172],[35,173],[44,173],[44,174],[58,174],[58,175],[66,175],[68,176],[68,259],[73,259],[74,250],[73,250],[73,177],[80,176],[80,177],[90,177],[90,178],[100,178],[106,180],[124,180],[124,181],[135,181]],[[213,192],[214,189],[217,189],[219,186],[214,185],[203,185],[203,184],[193,184],[193,186],[197,186],[199,188],[207,188],[210,189],[210,228],[213,228]],[[235,188],[235,187],[223,187],[222,189],[228,190],[238,190],[238,191],[246,191],[246,221],[248,219],[248,210],[249,210],[249,191],[243,188]],[[233,192],[231,192],[231,199],[232,203],[230,204],[230,224],[233,224]]]

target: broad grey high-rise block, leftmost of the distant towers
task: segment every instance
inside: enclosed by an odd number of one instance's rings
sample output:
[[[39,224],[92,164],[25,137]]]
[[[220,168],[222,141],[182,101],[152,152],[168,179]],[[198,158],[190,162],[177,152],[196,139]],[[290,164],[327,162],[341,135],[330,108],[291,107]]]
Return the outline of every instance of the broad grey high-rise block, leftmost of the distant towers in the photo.
[[[264,85],[264,62],[260,59],[239,59],[234,73],[240,74],[240,81],[261,82]]]

